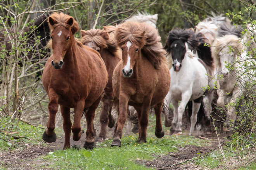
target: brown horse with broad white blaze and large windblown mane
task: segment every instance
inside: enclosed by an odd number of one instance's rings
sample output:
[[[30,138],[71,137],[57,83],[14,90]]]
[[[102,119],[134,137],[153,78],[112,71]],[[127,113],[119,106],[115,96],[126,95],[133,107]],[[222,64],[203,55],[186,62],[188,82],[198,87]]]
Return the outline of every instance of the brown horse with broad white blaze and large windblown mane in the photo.
[[[164,136],[161,111],[164,97],[170,88],[170,72],[165,51],[157,30],[145,23],[125,22],[115,32],[122,60],[113,73],[114,95],[119,101],[119,116],[111,146],[121,146],[127,107],[137,111],[139,120],[138,143],[146,142],[148,112],[154,106],[157,138]]]

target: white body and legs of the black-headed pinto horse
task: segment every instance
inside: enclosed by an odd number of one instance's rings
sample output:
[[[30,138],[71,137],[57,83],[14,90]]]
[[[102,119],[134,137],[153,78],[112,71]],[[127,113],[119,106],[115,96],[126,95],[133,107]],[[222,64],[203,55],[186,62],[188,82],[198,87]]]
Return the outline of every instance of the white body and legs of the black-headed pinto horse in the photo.
[[[185,43],[187,51],[190,49]],[[174,118],[172,121],[172,129],[175,131],[181,131],[182,116],[187,103],[191,100],[195,100],[204,94],[205,88],[208,85],[208,76],[205,67],[198,61],[196,57],[189,57],[188,53],[185,53],[185,57],[182,60],[182,67],[180,71],[176,72],[173,68],[170,69],[171,73],[171,85],[168,95],[166,96],[167,105],[170,102],[173,104]],[[180,106],[178,105],[180,102]],[[197,121],[197,112],[201,103],[193,102],[193,113],[191,116],[190,133],[192,135],[194,126]]]

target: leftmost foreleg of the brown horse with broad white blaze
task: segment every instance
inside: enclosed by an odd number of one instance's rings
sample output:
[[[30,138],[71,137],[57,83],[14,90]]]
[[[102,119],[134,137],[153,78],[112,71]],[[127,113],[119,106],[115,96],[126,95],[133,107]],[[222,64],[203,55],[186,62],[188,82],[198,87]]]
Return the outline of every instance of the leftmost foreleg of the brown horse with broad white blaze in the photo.
[[[126,114],[127,114],[126,112],[127,112],[127,108],[128,108],[128,101],[129,101],[128,96],[120,94],[118,122],[116,125],[116,131],[114,133],[114,139],[112,141],[111,146],[121,147],[121,137],[122,137],[123,127],[124,127],[125,121],[126,121]]]

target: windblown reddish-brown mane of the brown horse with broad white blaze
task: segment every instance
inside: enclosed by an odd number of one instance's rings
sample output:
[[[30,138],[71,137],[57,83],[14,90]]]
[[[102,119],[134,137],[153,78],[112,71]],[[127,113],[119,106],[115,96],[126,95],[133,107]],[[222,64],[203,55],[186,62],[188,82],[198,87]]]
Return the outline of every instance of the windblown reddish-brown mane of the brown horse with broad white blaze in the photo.
[[[166,62],[164,56],[166,52],[160,42],[161,37],[154,27],[146,23],[128,21],[120,24],[115,34],[119,47],[127,41],[133,42],[155,68],[159,68],[162,62]]]

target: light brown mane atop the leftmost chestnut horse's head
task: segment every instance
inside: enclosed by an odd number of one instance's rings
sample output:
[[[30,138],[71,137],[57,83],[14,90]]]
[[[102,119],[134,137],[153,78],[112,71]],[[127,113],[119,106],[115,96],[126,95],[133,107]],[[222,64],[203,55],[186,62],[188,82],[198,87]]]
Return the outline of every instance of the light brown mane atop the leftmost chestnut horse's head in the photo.
[[[50,17],[52,17],[52,19],[54,19],[57,23],[56,24],[54,24],[53,26],[51,26],[50,24],[49,24],[49,27],[50,27],[50,32],[52,32],[53,31],[53,29],[55,28],[55,27],[57,27],[57,26],[63,26],[63,27],[65,27],[65,28],[67,28],[67,29],[71,29],[71,32],[73,33],[73,35],[76,33],[76,32],[78,32],[79,31],[79,25],[78,25],[78,22],[76,21],[76,20],[74,20],[74,18],[73,17],[71,17],[71,16],[69,16],[69,15],[67,15],[67,14],[64,14],[63,12],[61,12],[61,13],[56,13],[56,12],[54,12],[54,13],[52,13],[51,15],[50,15]],[[70,26],[70,25],[68,25],[68,24],[66,24],[66,22],[70,19],[70,18],[73,18],[73,25],[72,26]]]

